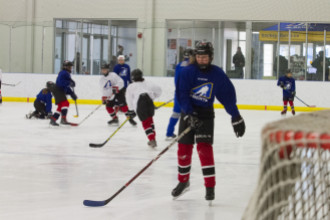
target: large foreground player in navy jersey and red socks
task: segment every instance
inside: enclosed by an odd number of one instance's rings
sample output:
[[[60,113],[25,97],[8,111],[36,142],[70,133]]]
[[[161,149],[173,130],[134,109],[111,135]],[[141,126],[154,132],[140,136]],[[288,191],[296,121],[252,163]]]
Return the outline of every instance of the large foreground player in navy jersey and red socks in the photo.
[[[185,67],[176,83],[176,97],[181,107],[179,134],[186,128],[193,130],[183,136],[178,144],[178,185],[172,190],[174,199],[189,189],[193,144],[202,165],[205,199],[214,200],[215,166],[213,156],[214,98],[222,103],[231,115],[232,126],[237,137],[245,133],[245,123],[236,106],[233,84],[218,66],[212,65],[213,46],[210,42],[198,42],[195,63]]]

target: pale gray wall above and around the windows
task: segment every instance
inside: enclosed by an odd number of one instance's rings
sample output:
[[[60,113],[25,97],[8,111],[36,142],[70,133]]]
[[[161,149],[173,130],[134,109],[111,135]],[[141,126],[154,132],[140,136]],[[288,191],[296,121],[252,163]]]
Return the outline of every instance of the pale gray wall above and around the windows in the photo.
[[[0,0],[0,68],[51,73],[54,18],[137,19],[137,65],[164,75],[166,19],[330,21],[329,0]],[[9,41],[9,39],[12,39]]]

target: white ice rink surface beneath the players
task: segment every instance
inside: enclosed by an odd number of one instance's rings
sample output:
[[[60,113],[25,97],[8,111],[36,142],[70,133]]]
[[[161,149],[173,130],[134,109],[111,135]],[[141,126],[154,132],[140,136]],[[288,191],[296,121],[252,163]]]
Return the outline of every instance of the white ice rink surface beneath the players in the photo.
[[[71,105],[68,119],[80,122],[95,108],[80,105],[80,117],[74,118]],[[79,127],[59,128],[49,127],[48,120],[25,119],[31,110],[32,103],[0,105],[0,219],[240,219],[257,182],[261,128],[282,118],[279,112],[241,111],[247,130],[237,139],[230,116],[215,110],[217,185],[212,207],[204,199],[195,149],[190,191],[172,200],[177,184],[174,145],[107,206],[89,208],[83,200],[109,198],[169,144],[165,131],[172,109],[156,111],[157,149],[147,146],[140,122],[137,127],[125,124],[103,148],[90,148],[90,142],[102,143],[116,129],[107,125],[104,107]],[[125,119],[123,114],[119,118]]]

